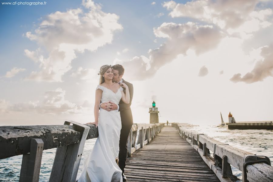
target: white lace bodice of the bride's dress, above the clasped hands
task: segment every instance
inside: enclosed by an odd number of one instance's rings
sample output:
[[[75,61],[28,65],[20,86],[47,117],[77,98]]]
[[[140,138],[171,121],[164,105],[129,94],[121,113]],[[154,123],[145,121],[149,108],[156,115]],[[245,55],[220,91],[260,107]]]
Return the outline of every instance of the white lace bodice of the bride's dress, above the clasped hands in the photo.
[[[123,88],[120,87],[116,93],[114,93],[112,90],[102,86],[102,85],[98,85],[97,89],[101,89],[103,91],[102,96],[101,96],[101,102],[108,102],[111,101],[115,104],[119,104],[120,103],[120,99],[121,99],[121,91],[123,91]]]

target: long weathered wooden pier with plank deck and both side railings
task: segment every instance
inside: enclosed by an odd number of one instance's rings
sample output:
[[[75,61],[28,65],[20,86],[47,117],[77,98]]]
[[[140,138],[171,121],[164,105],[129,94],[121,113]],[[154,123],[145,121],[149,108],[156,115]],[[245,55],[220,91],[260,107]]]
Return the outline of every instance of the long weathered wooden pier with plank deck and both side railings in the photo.
[[[57,148],[49,181],[75,182],[85,140],[96,137],[94,125],[73,121],[51,126],[0,126],[0,159],[23,154],[19,182],[36,182],[42,151]],[[243,182],[273,182],[268,157],[186,130],[180,123],[134,124],[127,157],[128,181],[234,182],[233,165],[243,172]]]

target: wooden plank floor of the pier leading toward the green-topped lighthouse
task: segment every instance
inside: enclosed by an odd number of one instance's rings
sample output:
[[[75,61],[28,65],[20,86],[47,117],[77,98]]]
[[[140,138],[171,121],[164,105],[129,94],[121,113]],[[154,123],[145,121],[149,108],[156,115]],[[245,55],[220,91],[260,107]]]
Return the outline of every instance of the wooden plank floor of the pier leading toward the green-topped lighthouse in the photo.
[[[199,153],[172,126],[126,160],[127,181],[219,181]]]

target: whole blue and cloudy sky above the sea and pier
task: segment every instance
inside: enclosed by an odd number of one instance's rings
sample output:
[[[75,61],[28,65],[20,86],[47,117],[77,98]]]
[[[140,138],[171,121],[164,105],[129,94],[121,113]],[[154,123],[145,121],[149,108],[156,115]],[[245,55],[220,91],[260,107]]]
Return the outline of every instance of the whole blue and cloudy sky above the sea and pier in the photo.
[[[2,126],[93,122],[105,64],[134,86],[134,123],[153,101],[160,122],[273,120],[270,0],[0,2]]]

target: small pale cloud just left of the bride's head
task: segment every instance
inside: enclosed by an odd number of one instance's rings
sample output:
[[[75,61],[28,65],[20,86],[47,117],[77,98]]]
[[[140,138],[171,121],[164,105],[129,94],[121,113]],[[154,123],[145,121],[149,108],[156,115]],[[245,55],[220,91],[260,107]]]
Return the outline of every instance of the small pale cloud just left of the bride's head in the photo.
[[[79,67],[76,72],[71,74],[71,76],[90,82],[94,79],[97,81],[98,75],[95,69],[83,69],[82,67]]]

